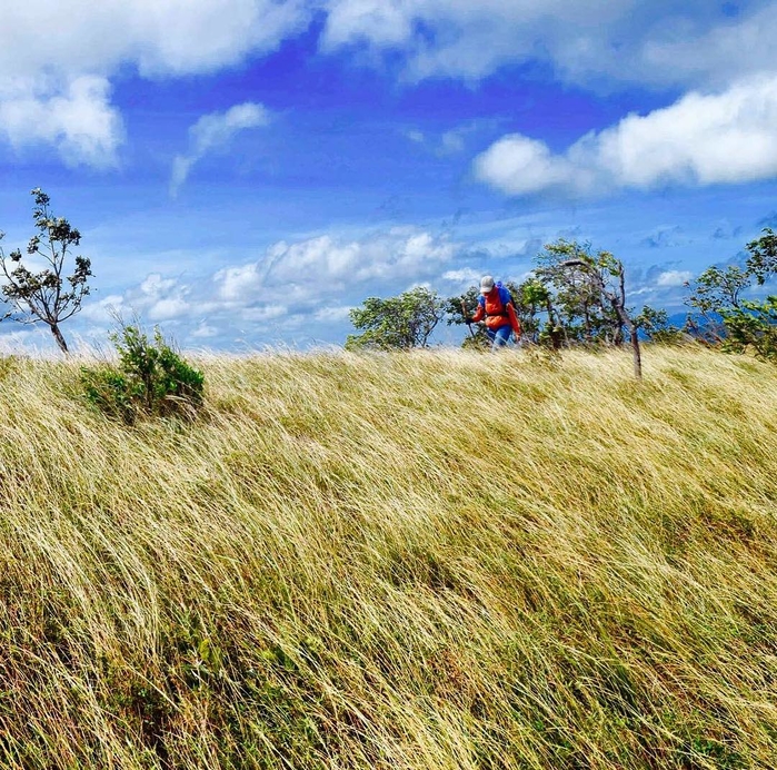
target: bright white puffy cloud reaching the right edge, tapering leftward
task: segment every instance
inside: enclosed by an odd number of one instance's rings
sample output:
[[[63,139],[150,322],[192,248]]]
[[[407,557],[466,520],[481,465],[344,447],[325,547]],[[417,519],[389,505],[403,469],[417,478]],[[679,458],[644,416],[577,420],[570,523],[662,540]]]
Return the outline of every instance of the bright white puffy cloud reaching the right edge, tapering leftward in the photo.
[[[777,76],[759,77],[629,115],[560,155],[521,135],[502,137],[476,158],[475,174],[509,195],[757,181],[777,176],[775,125]]]

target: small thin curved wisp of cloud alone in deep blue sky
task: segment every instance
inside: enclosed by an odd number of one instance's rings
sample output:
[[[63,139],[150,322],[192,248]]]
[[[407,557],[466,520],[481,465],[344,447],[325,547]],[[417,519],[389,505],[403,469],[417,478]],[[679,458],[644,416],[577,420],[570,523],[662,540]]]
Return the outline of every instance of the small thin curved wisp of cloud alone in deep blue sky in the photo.
[[[189,129],[189,152],[176,156],[170,178],[170,195],[178,195],[192,167],[212,150],[225,147],[236,134],[249,128],[258,128],[269,122],[269,113],[251,101],[236,105],[226,112],[203,115]]]

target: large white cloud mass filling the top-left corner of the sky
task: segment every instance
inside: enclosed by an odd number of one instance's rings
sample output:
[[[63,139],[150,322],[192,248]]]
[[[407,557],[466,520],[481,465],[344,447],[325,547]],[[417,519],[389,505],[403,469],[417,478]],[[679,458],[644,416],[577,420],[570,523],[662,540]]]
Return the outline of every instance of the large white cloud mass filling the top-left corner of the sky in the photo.
[[[276,49],[310,13],[305,0],[6,3],[0,137],[16,149],[48,144],[68,165],[113,167],[123,130],[109,83],[122,67],[142,77],[213,72]]]

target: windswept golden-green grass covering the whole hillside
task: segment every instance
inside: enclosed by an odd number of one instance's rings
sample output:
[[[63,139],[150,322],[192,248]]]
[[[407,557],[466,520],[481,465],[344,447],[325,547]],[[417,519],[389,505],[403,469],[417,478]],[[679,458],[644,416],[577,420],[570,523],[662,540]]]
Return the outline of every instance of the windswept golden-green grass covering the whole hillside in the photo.
[[[777,767],[774,366],[0,363],[0,767]]]

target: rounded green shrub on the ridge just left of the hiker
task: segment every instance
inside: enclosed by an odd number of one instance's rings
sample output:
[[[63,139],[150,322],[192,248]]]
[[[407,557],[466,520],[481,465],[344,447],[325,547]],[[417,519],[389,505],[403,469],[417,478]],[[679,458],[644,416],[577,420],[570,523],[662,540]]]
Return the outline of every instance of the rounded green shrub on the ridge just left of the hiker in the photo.
[[[346,349],[428,347],[431,333],[445,315],[445,302],[436,292],[419,286],[388,299],[369,297],[349,315],[362,333],[348,335]]]

